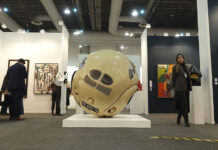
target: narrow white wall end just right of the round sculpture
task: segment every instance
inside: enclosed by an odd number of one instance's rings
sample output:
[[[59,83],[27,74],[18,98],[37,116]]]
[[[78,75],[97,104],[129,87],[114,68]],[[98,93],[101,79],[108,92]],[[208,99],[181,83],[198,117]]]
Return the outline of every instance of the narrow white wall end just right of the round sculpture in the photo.
[[[148,114],[148,44],[147,29],[141,36],[141,66],[142,66],[142,97],[144,102],[144,113]]]

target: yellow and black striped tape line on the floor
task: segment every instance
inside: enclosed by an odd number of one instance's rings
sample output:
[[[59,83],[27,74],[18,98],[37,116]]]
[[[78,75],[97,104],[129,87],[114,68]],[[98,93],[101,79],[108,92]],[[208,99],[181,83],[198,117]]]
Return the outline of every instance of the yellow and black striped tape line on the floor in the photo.
[[[150,139],[174,139],[174,140],[185,140],[185,141],[204,141],[204,142],[218,142],[218,140],[210,139],[197,139],[197,138],[179,138],[179,137],[169,137],[169,136],[152,136]]]

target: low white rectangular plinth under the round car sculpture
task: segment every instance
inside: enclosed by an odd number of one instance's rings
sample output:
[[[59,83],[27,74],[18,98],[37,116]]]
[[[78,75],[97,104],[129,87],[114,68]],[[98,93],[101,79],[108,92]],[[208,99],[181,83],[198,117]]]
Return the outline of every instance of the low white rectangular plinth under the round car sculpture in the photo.
[[[98,118],[90,114],[76,114],[63,120],[63,127],[91,128],[151,128],[151,121],[138,115],[115,115]]]

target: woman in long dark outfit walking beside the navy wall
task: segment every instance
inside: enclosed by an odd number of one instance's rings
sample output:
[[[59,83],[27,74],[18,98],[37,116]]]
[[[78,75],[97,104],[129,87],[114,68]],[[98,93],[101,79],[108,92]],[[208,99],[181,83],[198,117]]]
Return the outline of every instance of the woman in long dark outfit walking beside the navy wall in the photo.
[[[189,91],[191,91],[191,80],[185,58],[182,54],[176,55],[176,65],[173,67],[172,84],[175,90],[176,109],[178,111],[177,124],[180,124],[183,116],[185,126],[190,127],[189,113]]]

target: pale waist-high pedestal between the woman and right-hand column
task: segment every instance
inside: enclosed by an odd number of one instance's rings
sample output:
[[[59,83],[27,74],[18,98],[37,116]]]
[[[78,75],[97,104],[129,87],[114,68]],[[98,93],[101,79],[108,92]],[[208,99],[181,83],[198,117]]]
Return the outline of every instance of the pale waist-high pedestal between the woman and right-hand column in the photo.
[[[204,124],[204,99],[200,93],[202,93],[201,86],[193,86],[192,92],[190,92],[190,114],[189,120],[193,124]]]

